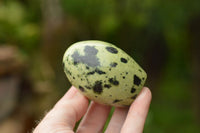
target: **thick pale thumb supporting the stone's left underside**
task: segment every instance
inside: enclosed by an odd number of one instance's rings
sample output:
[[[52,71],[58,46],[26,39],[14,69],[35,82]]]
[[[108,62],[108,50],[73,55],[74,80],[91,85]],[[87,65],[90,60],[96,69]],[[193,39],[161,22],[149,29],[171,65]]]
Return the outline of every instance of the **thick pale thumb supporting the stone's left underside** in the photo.
[[[34,133],[72,131],[87,108],[88,100],[76,88],[71,87],[36,127]]]

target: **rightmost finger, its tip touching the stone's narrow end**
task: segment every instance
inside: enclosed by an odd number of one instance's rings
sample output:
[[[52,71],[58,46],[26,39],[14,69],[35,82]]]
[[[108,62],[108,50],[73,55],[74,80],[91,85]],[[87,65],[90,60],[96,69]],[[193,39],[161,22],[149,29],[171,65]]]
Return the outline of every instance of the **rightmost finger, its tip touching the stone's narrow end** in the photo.
[[[144,87],[139,96],[130,106],[127,118],[121,130],[122,133],[143,132],[151,97],[151,91],[147,87]]]

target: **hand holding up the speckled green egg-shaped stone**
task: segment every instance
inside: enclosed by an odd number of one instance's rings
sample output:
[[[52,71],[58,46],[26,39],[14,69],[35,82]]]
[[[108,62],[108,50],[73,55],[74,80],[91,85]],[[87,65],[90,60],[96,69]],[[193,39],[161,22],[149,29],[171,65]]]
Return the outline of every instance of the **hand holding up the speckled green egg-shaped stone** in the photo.
[[[144,87],[129,108],[115,108],[106,133],[142,133],[151,102],[151,91]],[[100,133],[110,107],[91,102],[71,87],[44,117],[33,133],[74,133],[78,120],[83,119],[77,133]]]

